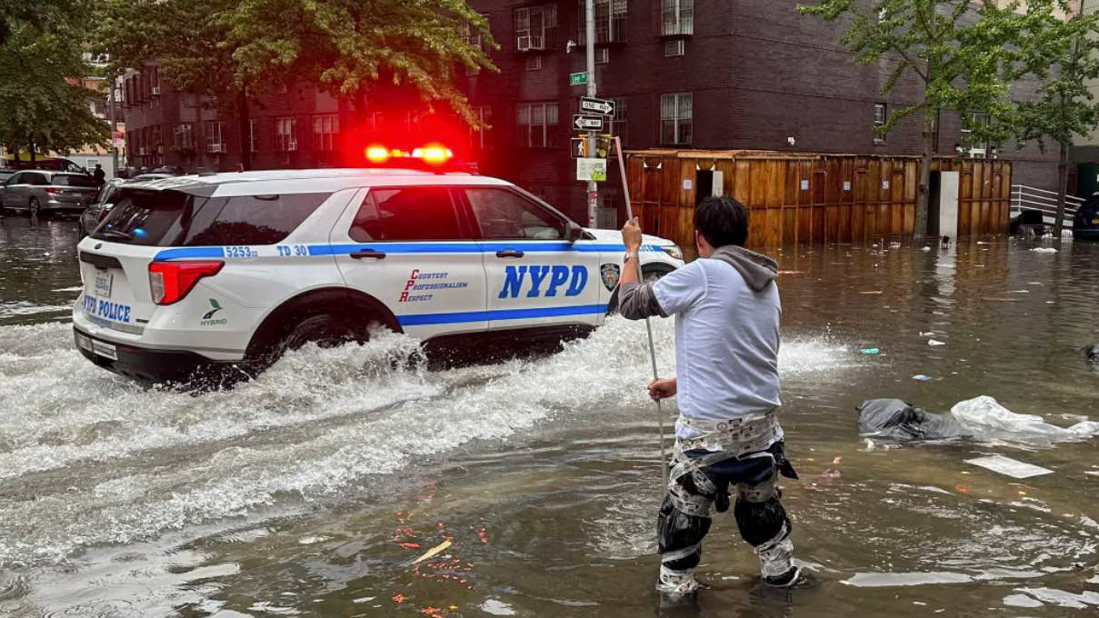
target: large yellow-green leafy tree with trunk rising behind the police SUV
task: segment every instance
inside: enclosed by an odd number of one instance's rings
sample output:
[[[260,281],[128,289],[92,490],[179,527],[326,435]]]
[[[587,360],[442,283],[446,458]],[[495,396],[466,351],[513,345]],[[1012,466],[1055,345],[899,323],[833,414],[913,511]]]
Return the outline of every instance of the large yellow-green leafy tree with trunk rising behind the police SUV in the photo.
[[[475,122],[456,69],[493,68],[463,36],[490,41],[464,0],[107,0],[104,12],[99,46],[119,68],[156,63],[177,89],[232,110],[242,144],[252,92],[314,84],[365,115],[373,88],[408,85]]]

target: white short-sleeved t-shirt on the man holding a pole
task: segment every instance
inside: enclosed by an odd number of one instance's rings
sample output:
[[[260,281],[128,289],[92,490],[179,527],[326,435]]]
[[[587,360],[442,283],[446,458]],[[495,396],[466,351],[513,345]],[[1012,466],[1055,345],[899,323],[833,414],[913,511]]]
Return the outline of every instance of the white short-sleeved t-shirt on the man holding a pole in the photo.
[[[699,258],[656,282],[653,295],[676,317],[680,418],[722,421],[779,405],[777,284],[753,293],[731,265]],[[676,421],[676,435],[698,434]]]

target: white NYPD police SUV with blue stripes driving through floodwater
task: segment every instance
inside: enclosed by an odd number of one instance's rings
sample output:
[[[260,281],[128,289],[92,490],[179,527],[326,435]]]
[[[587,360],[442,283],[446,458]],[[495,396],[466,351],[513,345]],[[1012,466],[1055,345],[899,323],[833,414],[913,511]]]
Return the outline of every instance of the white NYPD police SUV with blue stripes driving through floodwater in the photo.
[[[364,341],[371,324],[426,342],[590,329],[623,255],[617,231],[437,169],[181,176],[113,202],[79,244],[73,328],[92,363],[144,380],[258,371],[308,342]],[[646,277],[682,265],[654,236],[641,262]]]

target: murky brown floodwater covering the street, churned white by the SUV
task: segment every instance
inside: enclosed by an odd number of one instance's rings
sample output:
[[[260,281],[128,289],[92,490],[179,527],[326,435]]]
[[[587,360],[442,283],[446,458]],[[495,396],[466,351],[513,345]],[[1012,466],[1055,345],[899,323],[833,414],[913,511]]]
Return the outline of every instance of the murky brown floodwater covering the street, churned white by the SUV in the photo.
[[[390,335],[302,350],[231,391],[147,390],[74,350],[75,241],[71,221],[0,221],[2,616],[1099,613],[1097,439],[889,448],[854,412],[989,395],[1061,426],[1099,420],[1099,372],[1077,352],[1099,343],[1097,244],[778,254],[801,474],[784,499],[813,584],[761,587],[725,514],[699,569],[711,588],[660,608],[641,323],[491,366],[393,368],[415,345]],[[670,374],[671,321],[653,325]],[[992,453],[1054,473],[965,463]]]

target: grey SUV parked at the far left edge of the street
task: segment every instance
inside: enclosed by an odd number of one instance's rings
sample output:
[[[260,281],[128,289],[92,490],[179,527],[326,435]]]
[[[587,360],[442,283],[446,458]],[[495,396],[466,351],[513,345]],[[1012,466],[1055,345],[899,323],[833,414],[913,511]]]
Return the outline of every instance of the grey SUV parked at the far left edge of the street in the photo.
[[[81,212],[96,200],[99,189],[87,174],[24,169],[0,186],[0,208],[46,212]]]

